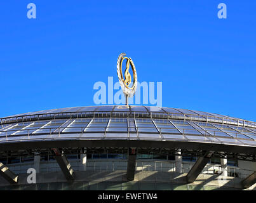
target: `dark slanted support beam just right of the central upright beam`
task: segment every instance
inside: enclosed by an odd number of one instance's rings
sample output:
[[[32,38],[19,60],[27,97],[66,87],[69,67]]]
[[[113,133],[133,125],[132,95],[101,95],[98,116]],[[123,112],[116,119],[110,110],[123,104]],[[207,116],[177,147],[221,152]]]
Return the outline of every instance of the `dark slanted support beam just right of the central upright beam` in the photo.
[[[187,183],[192,183],[198,178],[201,171],[203,171],[203,168],[206,166],[208,161],[211,159],[213,155],[212,151],[208,151],[205,153],[203,157],[199,157],[199,159],[196,161],[196,163],[192,166],[189,173],[187,173]]]

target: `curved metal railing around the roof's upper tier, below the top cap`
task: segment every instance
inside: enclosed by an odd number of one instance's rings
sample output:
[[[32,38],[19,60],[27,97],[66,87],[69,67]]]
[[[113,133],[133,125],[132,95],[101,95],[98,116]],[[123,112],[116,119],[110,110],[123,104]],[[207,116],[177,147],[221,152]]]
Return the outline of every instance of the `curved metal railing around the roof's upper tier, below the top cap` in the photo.
[[[141,117],[141,118],[161,118],[161,119],[177,119],[184,121],[205,121],[216,122],[219,124],[231,124],[234,126],[246,126],[256,128],[256,122],[246,121],[244,119],[236,119],[231,117],[218,117],[214,115],[198,115],[198,114],[182,114],[168,112],[130,112],[130,111],[91,111],[91,112],[59,112],[49,114],[34,115],[18,115],[13,117],[4,117],[0,119],[1,124],[10,124],[13,122],[40,121],[47,119],[79,119],[79,118],[95,118],[95,117]]]

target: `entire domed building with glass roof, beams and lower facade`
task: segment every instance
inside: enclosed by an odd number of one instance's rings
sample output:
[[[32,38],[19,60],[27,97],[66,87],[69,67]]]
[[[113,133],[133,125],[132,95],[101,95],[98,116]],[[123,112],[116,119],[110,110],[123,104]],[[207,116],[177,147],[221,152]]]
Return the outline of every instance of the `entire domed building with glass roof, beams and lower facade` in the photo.
[[[0,122],[1,190],[256,189],[256,122],[144,106],[60,108]]]

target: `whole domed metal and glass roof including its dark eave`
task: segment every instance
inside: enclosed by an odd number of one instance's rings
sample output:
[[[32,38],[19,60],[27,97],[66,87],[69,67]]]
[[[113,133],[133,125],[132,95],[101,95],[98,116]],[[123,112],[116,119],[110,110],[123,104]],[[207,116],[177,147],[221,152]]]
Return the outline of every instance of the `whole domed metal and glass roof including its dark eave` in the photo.
[[[210,149],[247,153],[250,159],[256,154],[255,122],[180,108],[59,108],[4,117],[0,122],[1,153],[83,146]]]

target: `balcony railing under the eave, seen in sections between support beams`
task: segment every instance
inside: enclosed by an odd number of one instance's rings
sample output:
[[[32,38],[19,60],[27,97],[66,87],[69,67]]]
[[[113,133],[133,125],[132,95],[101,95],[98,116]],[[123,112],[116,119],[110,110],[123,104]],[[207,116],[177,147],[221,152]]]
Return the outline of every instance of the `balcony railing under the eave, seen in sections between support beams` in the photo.
[[[77,160],[69,160],[74,171],[80,171],[81,162]],[[27,173],[27,169],[34,167],[33,162],[7,164],[13,173]],[[182,162],[182,173],[188,173],[194,162]],[[126,171],[127,159],[88,159],[86,162],[86,171]],[[170,172],[175,173],[175,161],[169,160],[136,160],[136,171],[158,171],[158,172]],[[55,160],[48,162],[41,162],[40,173],[50,173],[61,171]],[[221,175],[223,172],[222,167],[219,164],[207,164],[201,174]],[[227,166],[227,176],[246,178],[254,171],[240,169],[239,167]]]

